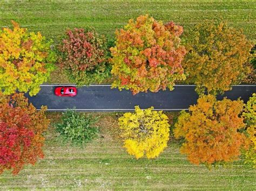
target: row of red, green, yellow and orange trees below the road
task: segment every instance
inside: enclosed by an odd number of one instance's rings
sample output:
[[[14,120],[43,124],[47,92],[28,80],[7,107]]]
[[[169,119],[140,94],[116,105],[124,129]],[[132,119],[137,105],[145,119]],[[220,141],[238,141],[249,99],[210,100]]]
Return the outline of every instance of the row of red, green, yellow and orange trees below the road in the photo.
[[[11,170],[18,174],[24,165],[34,165],[43,158],[43,133],[50,123],[46,107],[36,111],[22,93],[11,96],[0,93],[0,174]],[[68,110],[56,131],[65,142],[84,145],[98,137],[97,118]],[[208,168],[230,166],[243,158],[245,164],[256,167],[256,94],[247,104],[241,100],[213,95],[201,96],[189,112],[181,111],[170,128],[169,118],[153,107],[126,112],[118,118],[119,137],[127,153],[136,159],[157,158],[170,141],[182,143],[181,154],[192,164]]]

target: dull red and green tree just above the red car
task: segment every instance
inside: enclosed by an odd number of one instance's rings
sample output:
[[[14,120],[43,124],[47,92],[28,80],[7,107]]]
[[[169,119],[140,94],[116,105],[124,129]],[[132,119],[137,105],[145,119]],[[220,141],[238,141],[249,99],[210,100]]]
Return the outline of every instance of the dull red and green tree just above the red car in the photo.
[[[102,82],[110,75],[106,40],[93,29],[67,30],[59,51],[61,65],[70,81],[78,86]]]

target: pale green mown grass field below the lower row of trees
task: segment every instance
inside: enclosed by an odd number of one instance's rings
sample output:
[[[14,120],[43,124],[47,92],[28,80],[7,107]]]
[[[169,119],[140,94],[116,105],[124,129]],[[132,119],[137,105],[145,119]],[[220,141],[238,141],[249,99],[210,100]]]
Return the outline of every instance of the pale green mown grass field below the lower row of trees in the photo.
[[[172,142],[154,160],[136,160],[116,138],[117,117],[101,115],[101,133],[86,147],[59,141],[52,126],[46,133],[45,158],[26,166],[17,176],[0,176],[2,189],[247,189],[255,188],[255,170],[237,162],[233,168],[208,169],[191,165]],[[49,114],[56,122],[59,114]],[[170,115],[169,115],[170,116]]]

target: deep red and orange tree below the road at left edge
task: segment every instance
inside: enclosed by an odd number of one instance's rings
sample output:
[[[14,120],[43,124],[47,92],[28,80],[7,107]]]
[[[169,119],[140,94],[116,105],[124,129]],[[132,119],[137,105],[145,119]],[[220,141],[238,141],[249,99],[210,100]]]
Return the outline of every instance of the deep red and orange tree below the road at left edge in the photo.
[[[43,158],[42,133],[49,125],[45,110],[37,111],[23,94],[0,92],[0,174],[5,170],[17,174],[24,165]]]

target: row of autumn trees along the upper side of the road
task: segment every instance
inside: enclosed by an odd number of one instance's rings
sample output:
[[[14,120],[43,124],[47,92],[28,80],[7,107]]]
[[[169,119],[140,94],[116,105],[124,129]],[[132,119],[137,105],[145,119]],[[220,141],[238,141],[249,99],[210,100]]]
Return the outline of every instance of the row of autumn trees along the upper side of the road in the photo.
[[[254,70],[252,42],[226,22],[206,21],[183,34],[182,26],[142,15],[116,30],[115,43],[93,29],[68,29],[57,45],[40,32],[12,24],[13,29],[0,30],[0,88],[5,95],[16,90],[36,95],[56,66],[78,86],[103,82],[112,74],[113,88],[133,94],[192,83],[198,94],[216,95]]]

